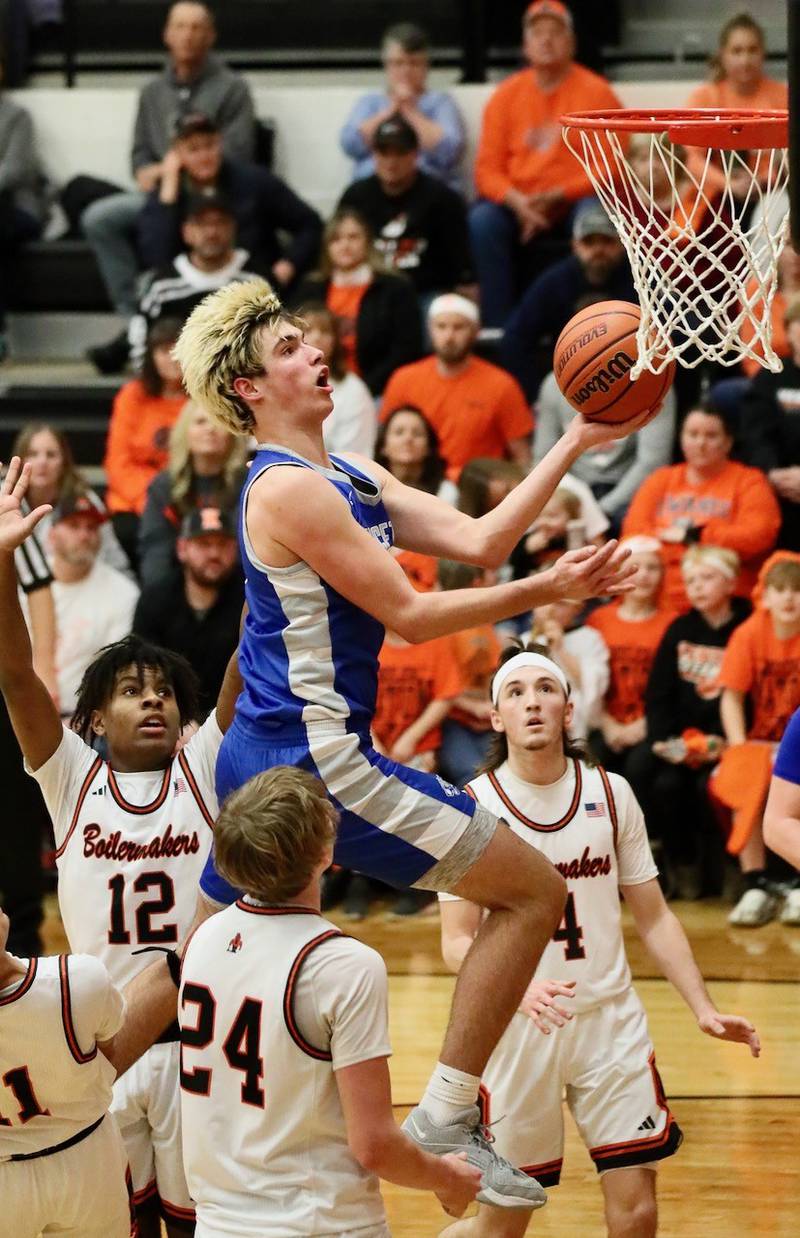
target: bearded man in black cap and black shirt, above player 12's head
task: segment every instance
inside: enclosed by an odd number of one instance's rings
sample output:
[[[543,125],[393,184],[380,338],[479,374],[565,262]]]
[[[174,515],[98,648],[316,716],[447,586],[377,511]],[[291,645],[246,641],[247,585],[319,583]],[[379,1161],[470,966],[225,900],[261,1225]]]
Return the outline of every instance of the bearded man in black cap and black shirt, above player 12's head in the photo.
[[[172,573],[145,586],[134,631],[183,654],[201,681],[201,709],[208,711],[239,641],[244,582],[233,513],[212,506],[189,511],[176,553]]]

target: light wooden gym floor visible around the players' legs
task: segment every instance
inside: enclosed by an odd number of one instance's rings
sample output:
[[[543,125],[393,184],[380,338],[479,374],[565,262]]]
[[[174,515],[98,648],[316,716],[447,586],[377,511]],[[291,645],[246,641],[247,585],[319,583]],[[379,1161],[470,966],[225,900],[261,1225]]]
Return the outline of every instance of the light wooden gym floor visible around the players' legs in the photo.
[[[732,928],[720,901],[672,904],[717,1005],[748,1015],[758,1061],[697,1031],[689,1010],[625,926],[637,988],[685,1141],[659,1170],[664,1238],[796,1238],[800,1233],[800,928]],[[337,920],[383,954],[390,977],[391,1076],[398,1119],[421,1094],[447,1018],[452,978],[438,952],[436,910],[395,919],[378,905],[362,924]],[[64,950],[54,899],[48,952]],[[490,997],[490,995],[489,995]],[[447,1218],[435,1200],[385,1186],[394,1238],[428,1238]],[[536,1238],[602,1238],[597,1175],[568,1123],[561,1186],[529,1227]]]

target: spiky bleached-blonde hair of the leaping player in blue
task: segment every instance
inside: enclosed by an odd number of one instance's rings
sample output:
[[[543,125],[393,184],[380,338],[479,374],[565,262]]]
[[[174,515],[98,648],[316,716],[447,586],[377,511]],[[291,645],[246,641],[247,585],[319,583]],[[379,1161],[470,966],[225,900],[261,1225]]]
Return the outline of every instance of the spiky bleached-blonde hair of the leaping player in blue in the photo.
[[[264,374],[261,331],[302,326],[285,311],[266,280],[228,284],[192,311],[172,349],[189,399],[203,405],[232,435],[248,435],[253,412],[234,391],[234,379]]]

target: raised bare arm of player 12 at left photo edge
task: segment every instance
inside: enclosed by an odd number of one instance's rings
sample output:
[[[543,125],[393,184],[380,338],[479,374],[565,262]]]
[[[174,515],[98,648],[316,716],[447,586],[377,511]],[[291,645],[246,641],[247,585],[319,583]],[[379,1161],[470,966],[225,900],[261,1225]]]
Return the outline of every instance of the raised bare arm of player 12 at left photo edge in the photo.
[[[0,691],[11,725],[31,769],[37,770],[61,743],[62,725],[50,692],[33,670],[31,639],[17,595],[14,552],[33,531],[50,506],[27,516],[21,503],[27,490],[30,464],[17,456],[0,485]]]

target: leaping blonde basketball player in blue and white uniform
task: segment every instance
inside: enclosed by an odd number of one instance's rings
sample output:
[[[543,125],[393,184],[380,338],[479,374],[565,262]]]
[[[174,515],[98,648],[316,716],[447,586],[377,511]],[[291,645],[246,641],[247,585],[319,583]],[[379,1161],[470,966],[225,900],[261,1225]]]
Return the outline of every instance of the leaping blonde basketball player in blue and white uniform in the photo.
[[[494,1154],[477,1098],[487,1060],[561,920],[565,883],[466,792],[375,753],[378,650],[384,626],[428,640],[556,598],[623,593],[634,569],[609,542],[567,552],[531,579],[422,594],[388,551],[394,543],[499,566],[577,457],[620,428],[576,417],[526,480],[473,520],[373,461],[328,456],[328,368],[302,327],[269,285],[253,281],[207,297],[175,349],[189,396],[259,443],[240,513],[244,690],[220,748],[217,790],[222,801],[274,765],[307,769],[339,811],[339,864],[490,911],[458,976],[442,1060],[405,1129],[428,1151],[467,1149],[483,1169],[483,1202],[537,1207],[544,1191]],[[239,894],[213,859],[201,888],[217,905]]]

